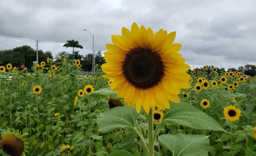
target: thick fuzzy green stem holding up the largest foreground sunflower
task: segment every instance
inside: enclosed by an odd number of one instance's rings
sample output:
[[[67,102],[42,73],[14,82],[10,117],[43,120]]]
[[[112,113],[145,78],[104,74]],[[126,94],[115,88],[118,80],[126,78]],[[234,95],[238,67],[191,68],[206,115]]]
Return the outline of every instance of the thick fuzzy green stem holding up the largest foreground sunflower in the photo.
[[[153,137],[153,111],[150,109],[148,115],[148,156],[154,156],[154,137]]]

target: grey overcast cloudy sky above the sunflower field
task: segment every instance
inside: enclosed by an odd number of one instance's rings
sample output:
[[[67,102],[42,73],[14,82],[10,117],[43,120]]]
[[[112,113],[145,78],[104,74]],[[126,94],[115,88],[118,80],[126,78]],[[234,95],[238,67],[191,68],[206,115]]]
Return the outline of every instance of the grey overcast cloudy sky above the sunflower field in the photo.
[[[66,40],[84,46],[80,54],[106,51],[112,34],[133,22],[154,31],[176,31],[180,52],[193,68],[255,64],[256,0],[0,0],[0,50],[29,45],[61,51]],[[24,37],[24,38],[21,38]],[[188,60],[189,59],[189,60]]]

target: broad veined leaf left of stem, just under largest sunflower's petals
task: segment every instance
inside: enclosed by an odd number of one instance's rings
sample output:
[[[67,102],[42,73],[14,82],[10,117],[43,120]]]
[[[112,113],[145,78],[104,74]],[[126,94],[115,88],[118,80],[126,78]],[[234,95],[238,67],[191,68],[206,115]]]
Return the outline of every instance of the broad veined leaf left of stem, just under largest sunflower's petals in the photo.
[[[135,107],[130,106],[115,107],[109,109],[103,115],[97,117],[99,131],[107,133],[117,128],[130,127],[134,129],[134,122],[139,114]]]

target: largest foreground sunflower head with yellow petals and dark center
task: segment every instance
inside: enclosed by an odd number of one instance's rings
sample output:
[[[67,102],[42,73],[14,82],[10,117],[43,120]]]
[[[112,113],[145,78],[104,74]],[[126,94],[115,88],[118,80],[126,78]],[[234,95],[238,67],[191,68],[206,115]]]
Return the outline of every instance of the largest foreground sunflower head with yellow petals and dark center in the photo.
[[[133,23],[131,31],[123,27],[122,36],[112,35],[113,44],[106,44],[103,77],[113,80],[111,89],[126,105],[136,103],[138,113],[141,107],[147,114],[155,106],[170,109],[169,100],[180,102],[180,88],[190,88],[190,66],[177,53],[181,44],[173,44],[175,36]]]

